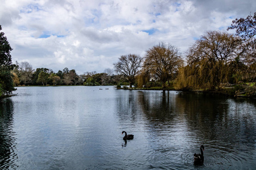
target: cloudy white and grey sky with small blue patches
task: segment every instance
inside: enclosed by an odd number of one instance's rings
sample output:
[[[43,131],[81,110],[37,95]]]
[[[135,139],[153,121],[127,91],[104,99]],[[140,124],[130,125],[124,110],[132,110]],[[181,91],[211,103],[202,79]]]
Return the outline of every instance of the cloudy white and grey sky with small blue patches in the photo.
[[[159,42],[184,54],[207,31],[254,12],[255,0],[0,0],[13,63],[79,75],[113,69],[122,55],[143,57]]]

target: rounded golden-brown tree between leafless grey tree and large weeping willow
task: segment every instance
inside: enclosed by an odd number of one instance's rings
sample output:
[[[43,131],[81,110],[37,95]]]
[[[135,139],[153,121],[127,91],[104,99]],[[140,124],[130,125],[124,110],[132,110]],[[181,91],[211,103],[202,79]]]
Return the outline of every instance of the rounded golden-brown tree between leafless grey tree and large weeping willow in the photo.
[[[175,78],[182,62],[179,50],[175,46],[160,42],[146,51],[143,69],[151,75],[156,75],[165,88],[166,82]]]

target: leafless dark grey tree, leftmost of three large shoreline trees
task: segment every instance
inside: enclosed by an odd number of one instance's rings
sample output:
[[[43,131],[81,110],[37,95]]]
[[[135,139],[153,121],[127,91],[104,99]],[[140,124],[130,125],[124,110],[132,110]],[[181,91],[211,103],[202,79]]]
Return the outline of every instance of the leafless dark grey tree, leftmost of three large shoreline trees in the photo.
[[[119,57],[119,61],[114,63],[114,68],[117,73],[121,73],[125,76],[131,88],[135,82],[135,76],[139,74],[141,63],[142,57],[137,54],[127,54]]]

